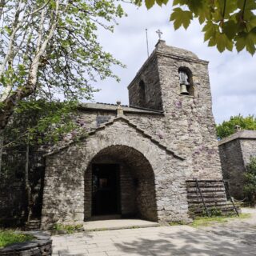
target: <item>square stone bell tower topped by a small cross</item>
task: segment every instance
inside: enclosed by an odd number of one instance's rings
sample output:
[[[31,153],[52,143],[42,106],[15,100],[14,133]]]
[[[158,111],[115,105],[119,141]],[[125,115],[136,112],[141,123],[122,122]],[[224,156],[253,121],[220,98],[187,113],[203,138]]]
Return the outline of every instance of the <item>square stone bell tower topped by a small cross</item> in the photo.
[[[190,178],[222,177],[208,62],[159,40],[128,90],[130,106],[162,110],[162,141],[183,154]]]

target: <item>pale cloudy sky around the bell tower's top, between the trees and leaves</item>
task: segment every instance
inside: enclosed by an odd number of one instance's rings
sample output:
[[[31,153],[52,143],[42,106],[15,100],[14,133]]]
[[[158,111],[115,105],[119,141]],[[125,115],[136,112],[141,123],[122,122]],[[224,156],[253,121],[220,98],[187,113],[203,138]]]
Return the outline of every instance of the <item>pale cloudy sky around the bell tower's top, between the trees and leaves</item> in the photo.
[[[103,50],[113,54],[126,68],[112,68],[121,82],[108,78],[94,85],[100,91],[94,94],[93,102],[115,103],[120,100],[123,105],[129,104],[127,86],[147,58],[147,28],[150,53],[158,42],[155,31],[159,29],[166,45],[190,50],[198,58],[210,62],[215,122],[221,123],[238,114],[256,115],[256,54],[252,57],[246,50],[240,53],[236,50],[219,53],[215,47],[203,42],[202,26],[198,21],[192,22],[187,30],[174,30],[173,24],[169,22],[171,7],[169,4],[146,10],[143,6],[138,8],[127,3],[123,8],[128,16],[118,20],[113,34],[106,30],[98,31]]]

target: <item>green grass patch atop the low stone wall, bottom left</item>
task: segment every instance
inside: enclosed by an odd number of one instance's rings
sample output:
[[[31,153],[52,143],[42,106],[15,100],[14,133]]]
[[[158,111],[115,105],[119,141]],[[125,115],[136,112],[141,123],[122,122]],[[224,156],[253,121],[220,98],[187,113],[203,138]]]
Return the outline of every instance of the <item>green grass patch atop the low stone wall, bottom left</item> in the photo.
[[[14,230],[0,230],[0,248],[16,242],[26,242],[34,239],[30,234],[16,233]]]

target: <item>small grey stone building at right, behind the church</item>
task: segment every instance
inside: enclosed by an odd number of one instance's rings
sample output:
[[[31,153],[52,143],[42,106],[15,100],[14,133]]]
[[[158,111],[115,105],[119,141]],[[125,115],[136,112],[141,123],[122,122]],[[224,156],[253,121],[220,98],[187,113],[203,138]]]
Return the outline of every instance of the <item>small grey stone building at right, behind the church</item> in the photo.
[[[218,142],[223,178],[231,196],[244,198],[244,173],[250,157],[256,157],[256,130],[238,130]]]

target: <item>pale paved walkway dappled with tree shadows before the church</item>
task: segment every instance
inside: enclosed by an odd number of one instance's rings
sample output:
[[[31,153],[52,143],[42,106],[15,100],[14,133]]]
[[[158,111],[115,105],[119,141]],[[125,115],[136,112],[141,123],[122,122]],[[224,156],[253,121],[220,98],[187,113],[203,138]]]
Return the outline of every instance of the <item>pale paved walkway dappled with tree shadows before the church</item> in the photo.
[[[200,229],[159,226],[52,238],[54,256],[253,256],[256,255],[256,214],[249,220]]]

